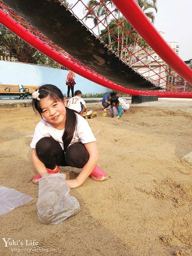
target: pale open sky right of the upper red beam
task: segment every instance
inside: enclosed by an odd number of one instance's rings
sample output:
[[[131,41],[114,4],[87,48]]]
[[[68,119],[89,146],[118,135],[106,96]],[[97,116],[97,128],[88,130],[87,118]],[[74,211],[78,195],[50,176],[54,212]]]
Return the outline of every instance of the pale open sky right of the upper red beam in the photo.
[[[157,9],[156,29],[166,41],[179,43],[181,59],[192,59],[192,0],[157,0]]]

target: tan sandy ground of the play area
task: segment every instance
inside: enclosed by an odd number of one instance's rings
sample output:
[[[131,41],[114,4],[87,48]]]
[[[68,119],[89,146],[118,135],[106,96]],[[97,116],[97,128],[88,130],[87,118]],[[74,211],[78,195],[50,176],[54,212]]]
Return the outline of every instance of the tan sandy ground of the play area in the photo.
[[[192,168],[181,160],[192,151],[192,102],[131,105],[119,120],[102,117],[100,104],[89,108],[98,111],[88,122],[108,180],[88,178],[71,190],[81,212],[52,226],[37,218],[31,138],[24,137],[40,117],[31,108],[0,109],[0,184],[34,197],[0,216],[0,255],[40,253],[29,252],[34,248],[64,256],[192,255]],[[61,170],[70,171],[67,178],[76,175],[72,168]],[[4,247],[2,238],[20,241]],[[27,246],[26,239],[38,245]]]

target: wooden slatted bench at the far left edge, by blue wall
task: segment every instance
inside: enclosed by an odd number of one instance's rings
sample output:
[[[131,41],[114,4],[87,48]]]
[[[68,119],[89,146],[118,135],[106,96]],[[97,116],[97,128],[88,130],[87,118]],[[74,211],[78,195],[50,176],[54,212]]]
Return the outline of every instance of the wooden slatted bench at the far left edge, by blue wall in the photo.
[[[13,95],[19,96],[19,99],[28,99],[27,94],[23,91],[23,88],[20,89],[18,84],[0,84],[0,95]]]

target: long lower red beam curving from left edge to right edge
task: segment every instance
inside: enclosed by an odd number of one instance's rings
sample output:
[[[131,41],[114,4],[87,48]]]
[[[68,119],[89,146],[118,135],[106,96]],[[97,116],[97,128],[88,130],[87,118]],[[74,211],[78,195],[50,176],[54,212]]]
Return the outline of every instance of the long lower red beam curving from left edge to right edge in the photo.
[[[96,72],[91,72],[90,70],[86,69],[86,67],[78,65],[74,63],[72,60],[67,58],[61,53],[54,50],[48,44],[41,41],[35,35],[33,35],[29,30],[21,26],[17,21],[11,18],[8,14],[0,9],[0,23],[2,23],[5,27],[11,30],[14,34],[18,37],[26,41],[28,44],[33,46],[35,49],[42,52],[47,57],[53,59],[54,61],[58,62],[62,66],[74,71],[80,76],[89,79],[90,81],[95,82],[96,84],[100,84],[104,87],[110,88],[111,90],[119,91],[125,94],[131,94],[134,96],[137,95],[157,95],[158,97],[167,97],[167,98],[192,98],[192,93],[173,93],[168,91],[136,91],[124,88],[114,82],[108,80],[107,78],[102,77]]]

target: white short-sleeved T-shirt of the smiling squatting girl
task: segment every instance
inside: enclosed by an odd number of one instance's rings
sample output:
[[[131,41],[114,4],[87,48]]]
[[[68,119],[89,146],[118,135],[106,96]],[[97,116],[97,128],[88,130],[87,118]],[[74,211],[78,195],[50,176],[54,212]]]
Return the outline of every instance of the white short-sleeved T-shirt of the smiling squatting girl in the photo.
[[[85,144],[96,141],[88,122],[82,116],[80,116],[80,114],[76,114],[76,116],[77,127],[70,145],[77,142]],[[45,119],[42,119],[40,122],[38,122],[37,126],[35,127],[35,133],[32,142],[30,143],[30,147],[35,148],[37,142],[43,137],[51,137],[57,142],[59,142],[62,150],[64,150],[62,141],[64,130],[65,128],[62,130],[58,130],[54,128],[52,125],[50,125],[50,123],[48,123]]]

